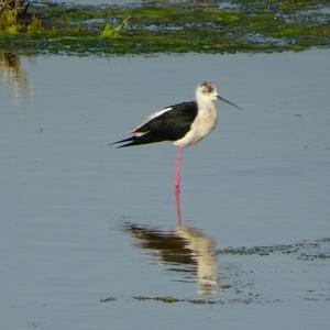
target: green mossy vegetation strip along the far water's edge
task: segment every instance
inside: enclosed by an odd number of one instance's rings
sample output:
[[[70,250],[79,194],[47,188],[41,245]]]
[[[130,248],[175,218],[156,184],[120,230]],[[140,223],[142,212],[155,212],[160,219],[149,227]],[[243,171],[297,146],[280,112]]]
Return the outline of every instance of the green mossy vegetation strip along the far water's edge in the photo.
[[[131,7],[0,3],[0,50],[4,52],[234,53],[330,45],[326,0],[152,1]]]

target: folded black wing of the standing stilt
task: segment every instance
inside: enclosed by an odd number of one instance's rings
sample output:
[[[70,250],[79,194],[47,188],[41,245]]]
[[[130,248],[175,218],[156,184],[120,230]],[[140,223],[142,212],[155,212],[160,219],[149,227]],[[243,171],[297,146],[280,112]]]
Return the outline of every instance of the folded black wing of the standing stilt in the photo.
[[[168,110],[166,110],[168,109]],[[177,141],[184,138],[191,128],[198,112],[196,101],[183,102],[165,108],[151,116],[150,120],[133,131],[133,136],[116,143],[129,142],[122,146]],[[157,116],[157,113],[160,113]]]

